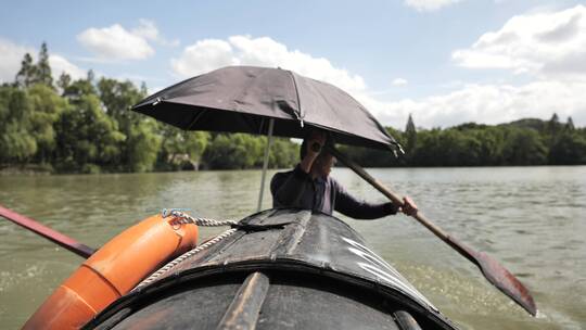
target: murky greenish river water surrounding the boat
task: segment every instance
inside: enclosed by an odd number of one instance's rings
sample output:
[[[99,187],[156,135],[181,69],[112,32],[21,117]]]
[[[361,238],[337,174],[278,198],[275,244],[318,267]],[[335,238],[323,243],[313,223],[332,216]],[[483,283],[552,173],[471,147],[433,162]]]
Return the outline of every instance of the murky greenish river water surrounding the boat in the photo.
[[[537,318],[528,316],[408,217],[339,215],[462,329],[586,329],[586,166],[369,172],[411,195],[444,230],[500,261],[539,308]],[[355,195],[384,200],[346,168],[332,175]],[[0,177],[0,204],[100,246],[164,207],[241,219],[256,211],[259,182],[259,170],[10,176]],[[270,193],[264,201],[268,208]],[[0,328],[17,329],[82,259],[7,220],[0,238]]]

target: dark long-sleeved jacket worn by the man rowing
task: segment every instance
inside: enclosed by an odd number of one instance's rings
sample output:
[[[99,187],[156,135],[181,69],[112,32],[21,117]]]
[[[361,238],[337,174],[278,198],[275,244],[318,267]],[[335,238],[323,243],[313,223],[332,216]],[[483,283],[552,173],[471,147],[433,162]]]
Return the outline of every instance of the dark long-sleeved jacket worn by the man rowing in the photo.
[[[311,179],[301,169],[278,173],[270,181],[272,207],[298,207],[331,215],[335,210],[357,219],[375,219],[396,214],[393,203],[371,204],[353,198],[332,177]]]

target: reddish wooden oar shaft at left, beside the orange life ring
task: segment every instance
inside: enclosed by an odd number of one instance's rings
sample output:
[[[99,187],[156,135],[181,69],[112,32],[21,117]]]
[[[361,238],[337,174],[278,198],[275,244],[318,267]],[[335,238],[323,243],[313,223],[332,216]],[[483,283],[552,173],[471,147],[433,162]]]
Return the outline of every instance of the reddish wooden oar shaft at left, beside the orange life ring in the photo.
[[[24,215],[17,214],[12,210],[5,208],[2,205],[0,205],[0,216],[13,221],[16,225],[23,226],[24,228],[35,233],[42,236],[51,242],[54,242],[81,257],[88,258],[95,251],[88,245],[81,244],[78,241],[59,231],[41,225],[31,218],[27,218]]]

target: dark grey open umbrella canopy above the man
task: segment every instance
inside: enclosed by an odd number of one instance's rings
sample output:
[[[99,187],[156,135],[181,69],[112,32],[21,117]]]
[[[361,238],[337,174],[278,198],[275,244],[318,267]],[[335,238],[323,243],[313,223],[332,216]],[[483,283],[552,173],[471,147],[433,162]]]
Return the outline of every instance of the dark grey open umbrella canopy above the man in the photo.
[[[337,143],[398,149],[362,106],[337,87],[291,71],[228,66],[168,87],[133,111],[187,130],[304,138],[308,127],[331,132]]]

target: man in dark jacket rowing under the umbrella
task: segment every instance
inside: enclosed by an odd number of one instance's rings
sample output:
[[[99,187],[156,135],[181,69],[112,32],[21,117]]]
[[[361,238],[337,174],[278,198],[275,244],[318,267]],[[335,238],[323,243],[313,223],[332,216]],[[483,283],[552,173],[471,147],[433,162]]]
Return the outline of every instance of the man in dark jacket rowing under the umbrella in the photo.
[[[397,212],[417,213],[417,205],[409,198],[404,199],[403,205],[395,205],[372,204],[352,196],[330,177],[335,157],[322,148],[326,140],[326,132],[313,131],[302,143],[301,163],[293,170],[272,177],[272,207],[298,207],[328,215],[335,210],[356,219],[377,219]]]

